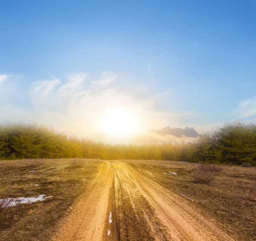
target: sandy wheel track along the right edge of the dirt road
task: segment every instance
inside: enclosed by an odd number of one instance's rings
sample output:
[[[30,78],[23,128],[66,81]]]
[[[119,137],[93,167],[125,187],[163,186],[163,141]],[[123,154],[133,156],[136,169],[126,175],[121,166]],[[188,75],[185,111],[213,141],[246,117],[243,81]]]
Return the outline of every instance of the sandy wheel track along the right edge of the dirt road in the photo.
[[[139,173],[127,163],[119,162],[143,190],[145,198],[155,209],[156,216],[167,228],[171,240],[186,241],[234,241],[224,231],[212,224],[192,207],[180,201],[180,197]]]

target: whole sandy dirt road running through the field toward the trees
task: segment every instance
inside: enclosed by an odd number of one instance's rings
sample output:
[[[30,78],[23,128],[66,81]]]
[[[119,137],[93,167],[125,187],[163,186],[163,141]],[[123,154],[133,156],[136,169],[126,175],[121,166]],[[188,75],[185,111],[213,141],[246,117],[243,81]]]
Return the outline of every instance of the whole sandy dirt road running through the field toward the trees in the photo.
[[[105,161],[52,241],[234,241],[131,165]]]

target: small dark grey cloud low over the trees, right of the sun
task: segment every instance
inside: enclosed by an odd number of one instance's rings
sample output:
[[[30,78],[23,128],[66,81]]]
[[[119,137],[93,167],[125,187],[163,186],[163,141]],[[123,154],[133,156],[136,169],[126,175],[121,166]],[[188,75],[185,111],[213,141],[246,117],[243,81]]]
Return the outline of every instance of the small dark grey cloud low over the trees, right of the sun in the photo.
[[[193,137],[193,138],[197,138],[198,136],[200,136],[197,131],[191,127],[185,127],[184,129],[182,128],[171,128],[169,126],[164,127],[163,129],[160,130],[151,130],[154,133],[160,134],[162,136],[165,135],[172,135],[172,136],[176,136],[176,137]]]

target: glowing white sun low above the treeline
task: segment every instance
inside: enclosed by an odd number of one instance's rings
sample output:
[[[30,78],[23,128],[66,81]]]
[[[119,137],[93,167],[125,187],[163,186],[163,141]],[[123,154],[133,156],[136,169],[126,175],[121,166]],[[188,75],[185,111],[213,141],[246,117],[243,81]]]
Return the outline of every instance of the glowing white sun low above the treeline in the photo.
[[[102,118],[103,132],[111,136],[134,134],[137,128],[137,116],[125,107],[113,107],[105,110]]]

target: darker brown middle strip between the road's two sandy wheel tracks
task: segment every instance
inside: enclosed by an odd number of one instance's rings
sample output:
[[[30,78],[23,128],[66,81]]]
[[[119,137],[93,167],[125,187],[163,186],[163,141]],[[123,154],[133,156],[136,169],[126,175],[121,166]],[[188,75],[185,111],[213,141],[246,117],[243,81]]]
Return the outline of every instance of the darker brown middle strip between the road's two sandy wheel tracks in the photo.
[[[129,241],[168,241],[171,240],[165,227],[155,216],[154,208],[144,196],[143,190],[133,179],[122,162],[113,162],[113,168],[122,187],[122,205],[125,212],[123,224]],[[120,190],[120,191],[121,191]],[[121,239],[122,238],[122,239]]]

